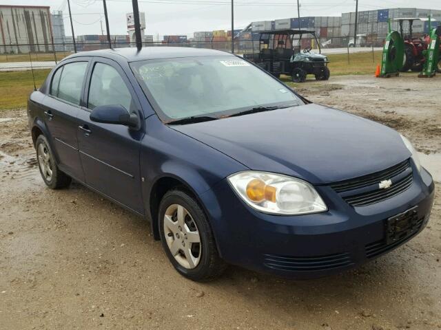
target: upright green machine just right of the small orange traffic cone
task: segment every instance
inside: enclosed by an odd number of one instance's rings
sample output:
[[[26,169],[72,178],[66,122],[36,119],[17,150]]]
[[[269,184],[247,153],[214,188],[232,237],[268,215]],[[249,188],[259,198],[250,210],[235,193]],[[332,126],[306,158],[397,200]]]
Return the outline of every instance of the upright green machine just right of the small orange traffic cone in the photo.
[[[398,76],[404,60],[404,41],[397,31],[392,31],[391,20],[388,21],[389,34],[384,41],[380,77]]]

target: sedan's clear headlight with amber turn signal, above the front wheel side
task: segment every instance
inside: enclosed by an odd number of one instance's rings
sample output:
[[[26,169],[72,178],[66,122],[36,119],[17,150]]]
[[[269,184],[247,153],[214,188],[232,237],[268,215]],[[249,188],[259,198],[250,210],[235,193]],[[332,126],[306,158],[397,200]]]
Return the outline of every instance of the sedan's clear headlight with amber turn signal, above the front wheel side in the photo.
[[[295,177],[249,170],[230,175],[228,181],[249,206],[262,212],[307,214],[327,210],[314,187]]]

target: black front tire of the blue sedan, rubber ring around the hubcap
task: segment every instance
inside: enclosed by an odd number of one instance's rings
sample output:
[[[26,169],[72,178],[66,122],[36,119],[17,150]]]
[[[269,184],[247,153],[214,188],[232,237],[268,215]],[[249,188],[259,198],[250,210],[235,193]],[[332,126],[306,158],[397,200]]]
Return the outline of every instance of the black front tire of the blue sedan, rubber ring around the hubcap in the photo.
[[[201,239],[201,243],[198,248],[201,250],[200,261],[196,267],[189,269],[183,267],[178,261],[176,261],[174,255],[170,251],[167,241],[165,240],[164,219],[167,208],[174,205],[183,206],[192,217],[192,220],[196,224],[196,229]],[[189,278],[192,281],[210,281],[220,276],[227,264],[220,259],[218,250],[216,248],[216,242],[212,228],[209,225],[207,217],[203,212],[201,206],[194,200],[194,198],[185,192],[185,190],[170,190],[167,192],[161,203],[159,204],[158,212],[158,228],[161,235],[161,242],[168,259],[178,271],[179,274]],[[168,235],[170,236],[170,234]],[[173,236],[173,235],[171,235]],[[175,238],[174,238],[175,239]],[[187,243],[188,244],[188,243]]]

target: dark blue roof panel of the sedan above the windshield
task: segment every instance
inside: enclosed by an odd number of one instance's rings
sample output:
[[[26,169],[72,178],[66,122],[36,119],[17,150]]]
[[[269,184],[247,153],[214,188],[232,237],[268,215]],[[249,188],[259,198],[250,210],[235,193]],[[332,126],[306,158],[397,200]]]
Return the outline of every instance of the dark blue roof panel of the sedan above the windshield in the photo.
[[[158,58],[176,58],[176,57],[195,57],[195,56],[233,56],[227,52],[219,50],[208,50],[205,48],[191,47],[143,47],[138,51],[135,47],[113,48],[107,50],[91,50],[88,52],[79,52],[68,56],[75,58],[81,56],[100,56],[112,58],[116,61],[143,61]]]

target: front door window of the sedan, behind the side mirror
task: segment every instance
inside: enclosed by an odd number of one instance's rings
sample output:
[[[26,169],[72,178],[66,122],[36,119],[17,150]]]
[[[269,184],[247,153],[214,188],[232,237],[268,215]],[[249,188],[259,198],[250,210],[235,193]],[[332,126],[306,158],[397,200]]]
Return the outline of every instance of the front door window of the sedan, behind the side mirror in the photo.
[[[122,105],[127,111],[134,110],[132,95],[116,69],[96,63],[90,80],[88,108],[116,104]]]

